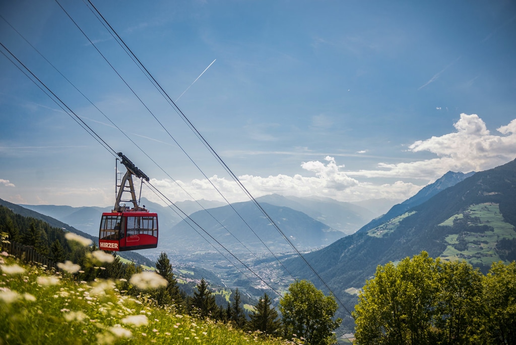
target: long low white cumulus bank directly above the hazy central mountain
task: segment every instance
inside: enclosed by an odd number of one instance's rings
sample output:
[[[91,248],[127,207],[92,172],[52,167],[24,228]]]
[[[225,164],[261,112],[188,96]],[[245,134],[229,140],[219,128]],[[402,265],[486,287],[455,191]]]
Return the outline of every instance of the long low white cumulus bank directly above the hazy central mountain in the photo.
[[[326,156],[322,162],[303,162],[301,168],[313,176],[300,174],[294,176],[280,174],[268,177],[242,175],[238,179],[254,197],[276,193],[297,197],[322,196],[341,201],[358,201],[369,198],[402,199],[411,197],[421,189],[421,186],[402,181],[381,185],[359,182],[350,178],[343,171],[344,165],[337,165],[331,156]],[[249,200],[236,182],[218,176],[209,178],[209,181],[196,179],[189,183],[181,181],[174,183],[170,180],[154,180],[151,183],[164,191],[166,195],[171,196],[171,200],[190,199],[190,196],[182,190],[185,189],[196,200],[224,201],[212,183],[230,202]]]

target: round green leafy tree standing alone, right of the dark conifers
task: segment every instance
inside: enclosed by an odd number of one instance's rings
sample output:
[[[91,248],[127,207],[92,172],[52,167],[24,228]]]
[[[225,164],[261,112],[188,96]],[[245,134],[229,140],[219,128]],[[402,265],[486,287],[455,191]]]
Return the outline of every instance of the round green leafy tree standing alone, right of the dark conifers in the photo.
[[[336,343],[332,331],[342,322],[333,320],[337,308],[333,296],[325,296],[310,281],[295,281],[280,300],[284,336],[304,338],[312,345]]]

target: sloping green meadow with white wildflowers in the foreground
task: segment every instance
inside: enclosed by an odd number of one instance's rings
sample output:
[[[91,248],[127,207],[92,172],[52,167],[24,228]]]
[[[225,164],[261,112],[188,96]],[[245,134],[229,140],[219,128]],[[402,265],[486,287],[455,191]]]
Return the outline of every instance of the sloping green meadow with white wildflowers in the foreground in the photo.
[[[156,306],[143,293],[124,295],[131,284],[147,281],[152,287],[148,275],[87,283],[69,273],[77,267],[62,266],[65,273],[55,273],[22,264],[6,252],[0,255],[0,345],[293,344],[180,315],[173,306]]]

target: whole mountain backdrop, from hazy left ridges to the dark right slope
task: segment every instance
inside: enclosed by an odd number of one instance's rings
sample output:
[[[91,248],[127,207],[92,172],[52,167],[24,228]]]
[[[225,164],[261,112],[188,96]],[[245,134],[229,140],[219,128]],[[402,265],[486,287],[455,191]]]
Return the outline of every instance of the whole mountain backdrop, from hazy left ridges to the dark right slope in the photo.
[[[307,251],[303,254],[304,259],[348,307],[356,303],[358,289],[373,276],[377,265],[397,262],[422,250],[431,257],[441,257],[443,260],[464,259],[483,272],[487,272],[492,262],[516,259],[516,160],[469,174],[447,172],[413,197],[394,205],[368,223],[367,217],[372,218],[373,213],[351,203],[279,195],[268,195],[257,200],[279,225],[284,236],[300,250]],[[30,213],[32,211],[20,206],[1,199],[0,203],[17,209],[17,213],[35,216]],[[197,257],[204,260],[206,252],[216,252],[214,246],[218,244],[214,239],[236,254],[245,253],[246,250],[266,253],[268,247],[281,256],[291,249],[283,234],[250,201],[220,206],[220,203],[210,204],[204,200],[202,204],[205,209],[201,210],[196,203],[185,203],[183,207],[192,212],[187,220],[180,219],[170,208],[148,200],[142,203],[160,214],[162,230],[155,253],[146,252],[145,255],[149,253],[154,256],[166,251],[175,253],[179,258],[188,254],[189,259]],[[71,224],[92,229],[93,237],[98,231],[101,213],[110,209],[26,207],[60,219],[73,220]],[[53,226],[71,228],[48,216],[35,217]],[[213,238],[207,236],[198,225]],[[351,234],[345,236],[346,231]],[[74,232],[80,233],[78,230]],[[323,248],[310,252],[317,247]],[[217,253],[214,255],[218,256]],[[323,288],[303,260],[285,259],[287,257],[288,254],[281,260],[293,276],[310,279]],[[212,268],[216,269],[214,265]],[[223,270],[227,269],[228,266],[223,267]],[[232,274],[237,276],[238,272]],[[275,281],[282,279],[275,275]]]

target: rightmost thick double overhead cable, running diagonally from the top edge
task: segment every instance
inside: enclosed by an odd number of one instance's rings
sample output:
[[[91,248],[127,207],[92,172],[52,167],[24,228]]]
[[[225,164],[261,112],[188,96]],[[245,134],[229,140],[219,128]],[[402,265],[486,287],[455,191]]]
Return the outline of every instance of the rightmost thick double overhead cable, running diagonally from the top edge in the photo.
[[[57,0],[56,0],[57,1]],[[104,16],[100,13],[100,11],[91,3],[91,0],[87,0],[88,3],[95,9],[95,11],[101,16],[101,18],[103,19],[103,21],[109,26],[109,28],[111,29],[111,31],[113,33],[115,33],[115,35],[118,37],[118,40],[120,42],[122,42],[122,44],[126,47],[126,49],[128,50],[128,52],[131,53],[131,55],[133,55],[135,57],[135,59],[138,61],[138,64],[146,71],[146,73],[150,76],[150,78],[152,79],[153,81],[153,84],[155,84],[156,87],[159,88],[160,92],[162,92],[162,95],[164,95],[164,97],[166,97],[166,99],[171,103],[171,105],[173,105],[173,108],[176,109],[176,112],[178,112],[178,114],[181,115],[181,117],[183,118],[183,121],[185,121],[185,123],[188,125],[188,127],[198,136],[198,138],[201,140],[201,142],[206,146],[206,148],[208,148],[208,150],[212,153],[212,155],[216,158],[216,160],[222,165],[222,167],[228,172],[228,174],[230,174],[230,176],[235,180],[235,182],[237,182],[237,184],[240,186],[240,188],[245,192],[245,194],[251,199],[251,201],[255,204],[255,206],[263,213],[263,215],[265,215],[267,217],[267,219],[269,219],[269,221],[271,222],[271,224],[279,231],[279,233],[281,234],[281,236],[287,241],[288,244],[290,244],[292,246],[292,248],[295,250],[295,252],[299,255],[299,257],[305,262],[305,264],[307,264],[307,266],[310,268],[310,270],[312,272],[314,272],[314,274],[317,276],[317,278],[321,281],[321,283],[330,291],[331,294],[333,294],[333,296],[335,297],[335,299],[338,301],[338,303],[340,303],[344,309],[349,313],[349,315],[351,315],[351,312],[348,310],[348,308],[346,308],[346,306],[344,305],[344,303],[342,303],[342,301],[340,301],[340,299],[338,299],[338,297],[335,295],[335,293],[333,293],[332,289],[328,286],[328,284],[326,283],[326,281],[324,279],[322,279],[322,277],[319,275],[319,273],[317,273],[317,271],[313,268],[313,266],[308,262],[308,260],[301,254],[301,252],[299,251],[299,249],[294,245],[294,243],[292,243],[291,240],[288,239],[288,237],[285,235],[285,233],[280,229],[280,227],[276,224],[276,222],[273,221],[273,219],[269,216],[269,214],[264,210],[264,208],[260,205],[259,202],[256,201],[256,199],[251,195],[251,193],[246,189],[246,187],[240,182],[240,180],[238,179],[238,177],[233,173],[233,171],[228,167],[227,164],[225,164],[225,162],[220,158],[220,156],[217,154],[217,152],[212,148],[211,145],[208,144],[208,142],[206,141],[206,139],[202,136],[202,134],[197,130],[197,128],[195,126],[193,126],[193,124],[190,122],[190,120],[186,117],[186,115],[181,111],[181,109],[178,107],[178,105],[175,104],[175,102],[170,98],[170,96],[168,95],[168,93],[162,88],[162,86],[160,86],[160,84],[156,81],[156,79],[154,78],[154,76],[152,76],[152,74],[148,71],[148,69],[142,64],[142,62],[138,59],[138,57],[136,57],[136,55],[133,53],[133,51],[125,44],[125,42],[122,40],[122,38],[116,33],[115,29],[111,27],[111,25],[107,22],[107,20],[104,18]],[[158,121],[159,122],[159,121]],[[160,123],[160,122],[159,122]],[[160,123],[161,124],[161,123]],[[163,126],[163,125],[162,125]],[[168,133],[168,131],[167,131]],[[195,163],[194,163],[195,164]],[[197,166],[197,165],[196,165]],[[209,181],[209,179],[208,179]],[[211,182],[211,181],[210,181]],[[212,183],[213,185],[213,183]],[[215,186],[214,186],[215,187]],[[219,192],[220,193],[220,192]],[[236,212],[236,210],[235,210]],[[238,212],[237,212],[238,213]]]

